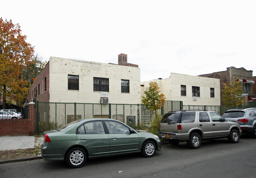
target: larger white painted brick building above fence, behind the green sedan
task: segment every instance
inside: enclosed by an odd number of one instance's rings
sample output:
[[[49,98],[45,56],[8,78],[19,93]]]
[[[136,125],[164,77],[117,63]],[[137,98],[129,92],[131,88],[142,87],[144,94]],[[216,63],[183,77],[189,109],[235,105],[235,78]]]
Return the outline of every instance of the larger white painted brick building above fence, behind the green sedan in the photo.
[[[49,63],[49,101],[59,103],[100,103],[101,93],[107,93],[112,104],[140,104],[140,68],[99,62],[50,57]],[[42,75],[42,73],[40,74]],[[68,88],[69,76],[78,78],[78,88]],[[94,80],[107,79],[108,91],[94,91]],[[129,91],[121,92],[121,80],[129,83]],[[31,98],[40,101],[38,90],[43,90],[44,79],[35,81],[29,89]],[[33,90],[35,92],[33,92]],[[32,94],[33,93],[33,94]],[[39,93],[42,93],[40,91]]]

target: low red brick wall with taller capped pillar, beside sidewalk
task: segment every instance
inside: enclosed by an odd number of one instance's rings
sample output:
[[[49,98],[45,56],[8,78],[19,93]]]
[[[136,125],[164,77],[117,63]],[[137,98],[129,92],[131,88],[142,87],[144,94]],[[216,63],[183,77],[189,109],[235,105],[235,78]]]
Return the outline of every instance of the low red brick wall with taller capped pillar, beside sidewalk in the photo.
[[[0,119],[0,136],[34,136],[35,103],[29,103],[28,119]]]

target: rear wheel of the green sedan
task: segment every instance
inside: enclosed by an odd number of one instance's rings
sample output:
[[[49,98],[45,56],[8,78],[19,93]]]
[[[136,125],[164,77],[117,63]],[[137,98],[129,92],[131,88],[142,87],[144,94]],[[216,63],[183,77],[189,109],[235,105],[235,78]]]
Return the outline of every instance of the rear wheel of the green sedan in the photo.
[[[86,160],[87,155],[82,148],[74,147],[67,153],[66,161],[71,168],[80,168]]]

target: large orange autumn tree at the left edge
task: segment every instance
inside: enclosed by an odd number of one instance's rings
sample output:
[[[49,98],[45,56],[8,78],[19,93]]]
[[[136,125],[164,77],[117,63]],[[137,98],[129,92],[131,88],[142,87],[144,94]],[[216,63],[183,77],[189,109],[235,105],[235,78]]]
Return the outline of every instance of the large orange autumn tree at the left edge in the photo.
[[[34,47],[21,34],[19,24],[0,18],[0,91],[3,94],[3,109],[6,103],[21,105],[28,88],[22,80],[22,70],[29,65]]]

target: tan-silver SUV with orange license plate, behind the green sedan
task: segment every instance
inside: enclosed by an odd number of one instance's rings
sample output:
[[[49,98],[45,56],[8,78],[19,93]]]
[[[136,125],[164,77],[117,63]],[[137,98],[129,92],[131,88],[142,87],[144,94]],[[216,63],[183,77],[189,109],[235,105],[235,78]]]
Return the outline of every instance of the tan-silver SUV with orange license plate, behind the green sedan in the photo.
[[[218,113],[206,110],[168,112],[160,127],[160,137],[173,145],[186,141],[192,149],[200,147],[201,139],[227,137],[231,143],[237,143],[242,133],[238,123],[225,121]]]

